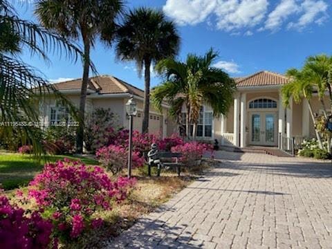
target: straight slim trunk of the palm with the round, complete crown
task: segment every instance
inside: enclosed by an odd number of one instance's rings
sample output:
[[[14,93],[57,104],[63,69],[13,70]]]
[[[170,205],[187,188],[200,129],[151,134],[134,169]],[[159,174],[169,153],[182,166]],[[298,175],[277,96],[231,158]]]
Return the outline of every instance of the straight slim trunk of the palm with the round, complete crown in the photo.
[[[150,109],[150,66],[151,59],[145,59],[145,90],[144,90],[144,106],[143,106],[143,122],[142,133],[149,133],[149,109]]]

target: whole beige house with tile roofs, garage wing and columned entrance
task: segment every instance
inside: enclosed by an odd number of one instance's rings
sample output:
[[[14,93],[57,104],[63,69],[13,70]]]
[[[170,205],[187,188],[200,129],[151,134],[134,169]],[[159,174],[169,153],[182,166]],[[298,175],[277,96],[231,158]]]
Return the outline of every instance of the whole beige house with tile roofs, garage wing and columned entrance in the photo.
[[[197,124],[197,140],[212,142],[219,140],[222,145],[246,147],[248,145],[288,147],[293,138],[315,137],[315,129],[310,118],[308,102],[300,104],[291,101],[290,108],[282,104],[281,89],[288,78],[279,73],[260,71],[247,77],[234,78],[237,92],[234,103],[225,116],[214,117],[212,108],[201,107]],[[81,79],[55,84],[55,88],[77,105],[80,102]],[[86,98],[86,111],[97,108],[110,108],[118,116],[120,127],[128,127],[125,104],[132,95],[138,104],[138,115],[133,120],[133,129],[141,131],[144,91],[116,77],[102,75],[91,77]],[[328,96],[326,95],[326,102]],[[320,113],[317,94],[311,100],[313,111]],[[149,132],[160,133],[164,137],[181,129],[167,116],[169,106],[163,104],[163,113],[150,107]],[[55,99],[48,98],[44,105],[44,122],[62,118],[62,111]],[[185,108],[183,108],[185,116]],[[185,120],[185,118],[182,118]],[[182,131],[185,124],[182,124]]]

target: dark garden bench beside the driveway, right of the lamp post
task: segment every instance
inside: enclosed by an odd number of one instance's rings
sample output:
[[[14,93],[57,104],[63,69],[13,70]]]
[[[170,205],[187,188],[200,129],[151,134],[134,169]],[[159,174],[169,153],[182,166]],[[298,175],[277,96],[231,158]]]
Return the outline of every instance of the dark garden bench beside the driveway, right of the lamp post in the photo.
[[[176,167],[176,173],[178,174],[178,176],[180,176],[181,166],[183,164],[178,162],[178,158],[181,157],[181,153],[172,153],[167,151],[158,152],[154,156],[153,161],[151,160],[151,163],[149,163],[149,176],[151,176],[151,167],[158,167],[157,176],[160,176],[160,171],[162,167]],[[175,162],[173,161],[173,159],[175,159]]]

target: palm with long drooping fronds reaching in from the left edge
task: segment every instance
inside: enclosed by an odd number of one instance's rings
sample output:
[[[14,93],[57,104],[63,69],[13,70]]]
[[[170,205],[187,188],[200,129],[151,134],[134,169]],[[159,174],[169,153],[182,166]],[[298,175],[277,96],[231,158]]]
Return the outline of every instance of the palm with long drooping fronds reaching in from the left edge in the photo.
[[[62,98],[44,75],[21,59],[23,48],[48,62],[46,53],[64,53],[74,61],[82,54],[67,39],[31,21],[20,19],[6,0],[0,0],[0,140],[1,136],[19,133],[22,143],[33,145],[35,154],[42,152],[38,102],[46,93]],[[62,100],[65,101],[64,98]],[[17,122],[17,123],[13,123]],[[33,125],[33,126],[31,126]],[[14,127],[13,127],[14,126]]]

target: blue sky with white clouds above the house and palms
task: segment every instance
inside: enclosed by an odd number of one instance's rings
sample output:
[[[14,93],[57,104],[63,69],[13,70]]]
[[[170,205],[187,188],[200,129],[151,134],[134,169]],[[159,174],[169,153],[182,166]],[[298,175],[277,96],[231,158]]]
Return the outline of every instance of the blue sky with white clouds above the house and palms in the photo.
[[[37,21],[33,0],[12,0],[20,17]],[[23,4],[22,4],[23,3]],[[214,66],[232,77],[257,71],[285,73],[299,68],[306,57],[332,55],[331,0],[128,0],[126,8],[146,6],[163,10],[181,36],[178,59],[188,53],[203,55],[214,48]],[[50,55],[51,64],[39,57],[21,56],[44,73],[50,82],[82,77],[82,64]],[[144,77],[134,62],[120,62],[109,48],[97,42],[91,58],[100,75],[114,75],[140,89]],[[151,86],[162,82],[151,68]]]

